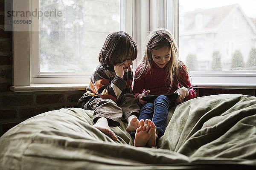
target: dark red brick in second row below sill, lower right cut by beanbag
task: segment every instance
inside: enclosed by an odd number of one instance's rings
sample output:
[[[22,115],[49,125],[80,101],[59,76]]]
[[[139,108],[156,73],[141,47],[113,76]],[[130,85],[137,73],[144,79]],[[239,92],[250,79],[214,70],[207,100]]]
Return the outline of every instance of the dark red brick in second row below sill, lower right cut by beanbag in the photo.
[[[20,118],[30,118],[47,111],[49,111],[49,108],[23,108],[20,109]]]

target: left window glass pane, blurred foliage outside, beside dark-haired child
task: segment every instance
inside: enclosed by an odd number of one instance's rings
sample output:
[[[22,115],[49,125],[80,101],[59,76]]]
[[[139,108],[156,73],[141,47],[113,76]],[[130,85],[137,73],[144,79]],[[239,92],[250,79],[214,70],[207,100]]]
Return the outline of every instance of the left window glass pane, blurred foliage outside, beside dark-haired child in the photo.
[[[40,71],[93,71],[119,0],[40,0]]]

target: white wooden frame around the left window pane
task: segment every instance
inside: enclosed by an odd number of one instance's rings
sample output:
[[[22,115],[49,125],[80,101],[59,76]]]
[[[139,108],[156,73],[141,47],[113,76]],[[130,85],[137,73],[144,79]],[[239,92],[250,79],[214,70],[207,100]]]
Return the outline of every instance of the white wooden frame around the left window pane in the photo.
[[[134,0],[120,0],[120,30],[132,35]],[[39,0],[14,0],[13,11],[39,10]],[[18,20],[19,17],[13,17]],[[39,20],[35,17],[22,17],[32,20],[31,24],[13,24],[13,86],[12,91],[56,91],[80,90],[89,83],[92,72],[40,72],[39,71]]]

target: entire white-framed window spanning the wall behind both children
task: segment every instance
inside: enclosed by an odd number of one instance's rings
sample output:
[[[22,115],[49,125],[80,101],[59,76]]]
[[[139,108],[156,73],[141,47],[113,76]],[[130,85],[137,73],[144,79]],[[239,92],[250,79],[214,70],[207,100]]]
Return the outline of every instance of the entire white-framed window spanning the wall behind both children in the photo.
[[[223,0],[13,3],[14,11],[32,14],[13,17],[32,20],[31,24],[13,25],[16,88],[51,83],[64,87],[67,83],[87,84],[107,34],[117,30],[128,32],[137,43],[140,60],[148,31],[157,27],[168,28],[174,34],[179,57],[190,68],[195,87],[256,88],[254,0],[233,0],[233,5]],[[104,10],[100,10],[103,6]],[[188,56],[197,62],[193,65]],[[135,61],[133,68],[136,64]]]

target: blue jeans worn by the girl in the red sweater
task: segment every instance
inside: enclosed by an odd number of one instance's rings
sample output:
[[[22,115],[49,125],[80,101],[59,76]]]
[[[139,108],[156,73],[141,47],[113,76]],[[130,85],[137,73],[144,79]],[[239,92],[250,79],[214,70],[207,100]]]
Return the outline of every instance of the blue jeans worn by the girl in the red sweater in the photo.
[[[158,138],[163,136],[166,129],[167,115],[170,108],[176,106],[175,102],[170,100],[166,96],[158,96],[154,103],[147,102],[142,106],[140,110],[140,119],[150,119],[156,125],[158,131]],[[135,132],[131,132],[131,136],[134,136]]]

